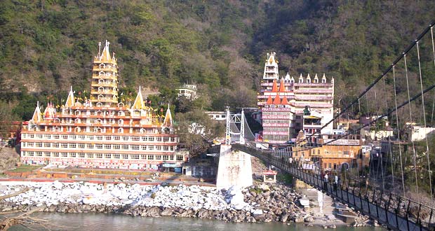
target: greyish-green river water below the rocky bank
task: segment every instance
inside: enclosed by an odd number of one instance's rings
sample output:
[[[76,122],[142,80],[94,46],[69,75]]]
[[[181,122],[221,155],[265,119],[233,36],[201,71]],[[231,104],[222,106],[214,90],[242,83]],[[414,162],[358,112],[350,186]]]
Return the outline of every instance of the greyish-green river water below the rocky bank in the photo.
[[[290,223],[225,223],[223,221],[199,219],[199,218],[173,218],[173,217],[133,217],[122,214],[58,214],[39,213],[36,218],[48,220],[50,230],[170,230],[170,231],[280,231],[280,230],[324,230],[321,227],[307,227],[300,224]],[[41,226],[21,225],[11,230],[47,230]],[[351,228],[338,227],[337,231],[384,231],[382,228]]]

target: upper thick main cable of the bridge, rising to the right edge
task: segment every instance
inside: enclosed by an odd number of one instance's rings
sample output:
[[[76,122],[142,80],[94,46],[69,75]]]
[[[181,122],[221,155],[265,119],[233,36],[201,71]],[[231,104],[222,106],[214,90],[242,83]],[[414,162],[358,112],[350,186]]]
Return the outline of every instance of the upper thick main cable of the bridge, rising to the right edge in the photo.
[[[429,25],[429,27],[426,27],[422,33],[417,36],[417,38],[415,39],[415,41],[413,41],[412,43],[410,43],[410,45],[408,45],[408,48],[406,48],[401,55],[399,55],[399,57],[397,57],[394,62],[388,66],[388,68],[380,75],[378,76],[372,83],[370,83],[370,85],[368,85],[368,87],[366,87],[365,90],[363,90],[363,92],[361,92],[359,94],[358,97],[356,97],[356,99],[354,99],[353,102],[351,102],[349,105],[347,105],[344,110],[340,111],[340,113],[337,113],[337,116],[334,116],[331,120],[329,120],[325,125],[323,125],[319,131],[323,130],[323,128],[327,127],[330,123],[333,123],[335,120],[337,120],[337,118],[340,118],[340,116],[342,116],[343,113],[345,113],[347,110],[349,110],[349,108],[356,104],[356,102],[359,102],[359,99],[361,99],[361,97],[364,96],[364,94],[366,94],[373,86],[376,85],[377,82],[379,82],[382,78],[384,78],[384,76],[387,75],[387,73],[389,73],[391,71],[391,69],[393,69],[393,66],[395,66],[401,59],[403,59],[403,56],[405,54],[407,54],[412,48],[414,48],[414,46],[417,44],[417,41],[420,41],[420,39],[423,38],[424,35],[426,35],[429,31],[431,31],[431,28],[435,25],[435,20],[431,22],[431,24]],[[361,112],[361,108],[360,108],[360,112]],[[317,133],[314,133],[312,135],[310,135],[309,137],[314,136]]]

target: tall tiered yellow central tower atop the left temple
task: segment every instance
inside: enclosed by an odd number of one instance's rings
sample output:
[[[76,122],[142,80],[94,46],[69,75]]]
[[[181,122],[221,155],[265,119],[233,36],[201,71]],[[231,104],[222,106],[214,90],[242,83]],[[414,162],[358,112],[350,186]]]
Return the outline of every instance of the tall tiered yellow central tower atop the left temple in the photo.
[[[109,52],[109,42],[101,52],[98,43],[98,56],[93,60],[91,82],[91,104],[93,106],[116,106],[118,103],[118,66],[115,54]]]

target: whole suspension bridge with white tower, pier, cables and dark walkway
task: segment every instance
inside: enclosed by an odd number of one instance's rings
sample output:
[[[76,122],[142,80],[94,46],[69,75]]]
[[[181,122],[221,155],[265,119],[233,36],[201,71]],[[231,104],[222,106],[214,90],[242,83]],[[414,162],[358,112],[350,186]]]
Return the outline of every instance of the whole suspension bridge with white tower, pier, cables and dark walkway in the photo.
[[[393,132],[380,139],[388,144],[388,148],[382,149],[380,156],[370,156],[367,167],[355,170],[356,164],[350,163],[349,169],[337,168],[340,182],[334,186],[322,178],[326,166],[321,162],[311,162],[313,167],[304,167],[307,160],[295,158],[294,146],[281,150],[258,148],[259,142],[255,141],[243,110],[231,114],[227,109],[226,137],[225,144],[221,145],[217,187],[251,185],[252,155],[391,230],[435,230],[434,176],[431,170],[435,162],[435,151],[431,148],[435,144],[431,144],[428,135],[420,141],[413,139],[414,125],[422,128],[435,125],[434,25],[435,21],[361,94],[342,107],[332,120],[323,123],[319,131],[341,116],[355,118],[366,115],[373,118],[368,124],[349,129],[328,141],[302,147],[311,153],[313,148],[333,145],[333,142],[360,134],[365,128],[380,132],[387,124]],[[406,134],[408,129],[410,134]],[[313,134],[312,137],[321,141],[322,135]],[[307,140],[312,140],[312,137]]]

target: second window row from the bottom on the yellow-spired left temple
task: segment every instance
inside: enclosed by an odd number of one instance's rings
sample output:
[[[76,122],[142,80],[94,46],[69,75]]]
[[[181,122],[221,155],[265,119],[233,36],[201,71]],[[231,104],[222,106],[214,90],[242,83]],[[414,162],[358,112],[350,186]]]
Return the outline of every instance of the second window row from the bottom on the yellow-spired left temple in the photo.
[[[175,146],[158,145],[135,145],[135,144],[69,144],[69,143],[43,143],[22,142],[22,147],[36,148],[97,148],[97,149],[121,149],[121,150],[145,150],[145,151],[175,151]]]

